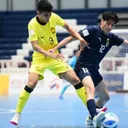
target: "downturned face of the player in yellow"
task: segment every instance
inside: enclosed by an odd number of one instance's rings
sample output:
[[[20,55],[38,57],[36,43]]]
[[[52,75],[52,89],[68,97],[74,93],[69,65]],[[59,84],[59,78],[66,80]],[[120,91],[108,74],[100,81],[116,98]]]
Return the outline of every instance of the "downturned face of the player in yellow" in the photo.
[[[44,22],[44,23],[47,23],[51,17],[51,12],[38,12],[38,17],[40,19],[40,21]]]

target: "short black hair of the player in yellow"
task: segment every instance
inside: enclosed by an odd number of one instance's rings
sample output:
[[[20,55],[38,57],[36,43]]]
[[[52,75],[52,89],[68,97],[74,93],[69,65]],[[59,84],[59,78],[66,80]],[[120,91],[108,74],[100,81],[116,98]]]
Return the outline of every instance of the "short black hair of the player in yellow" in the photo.
[[[53,6],[48,0],[39,0],[37,4],[37,10],[42,12],[52,12]]]

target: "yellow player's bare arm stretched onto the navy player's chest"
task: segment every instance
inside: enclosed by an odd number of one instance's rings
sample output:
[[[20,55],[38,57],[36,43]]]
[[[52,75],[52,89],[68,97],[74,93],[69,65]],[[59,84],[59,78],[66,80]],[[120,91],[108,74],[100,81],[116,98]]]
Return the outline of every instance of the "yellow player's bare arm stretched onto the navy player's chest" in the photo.
[[[88,43],[81,37],[81,35],[76,32],[70,25],[68,25],[66,22],[63,26],[74,38],[78,39],[80,41],[80,45],[82,48],[85,46],[88,47]]]

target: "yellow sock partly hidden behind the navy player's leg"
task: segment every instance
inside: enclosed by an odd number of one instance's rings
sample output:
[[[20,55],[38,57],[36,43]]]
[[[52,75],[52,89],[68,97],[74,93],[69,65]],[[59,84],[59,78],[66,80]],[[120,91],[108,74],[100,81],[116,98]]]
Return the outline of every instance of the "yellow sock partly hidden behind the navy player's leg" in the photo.
[[[84,102],[86,105],[87,103],[87,94],[85,87],[81,87],[79,89],[76,89],[77,95],[80,97],[80,99]],[[86,105],[87,106],[87,105]]]

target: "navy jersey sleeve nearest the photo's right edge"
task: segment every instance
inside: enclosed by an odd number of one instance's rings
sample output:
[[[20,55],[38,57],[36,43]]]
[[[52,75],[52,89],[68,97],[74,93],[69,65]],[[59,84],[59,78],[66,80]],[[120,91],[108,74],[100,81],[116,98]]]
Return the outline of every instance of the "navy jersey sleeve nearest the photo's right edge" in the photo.
[[[112,43],[113,45],[120,46],[124,42],[124,39],[118,37],[115,34],[112,34]]]

